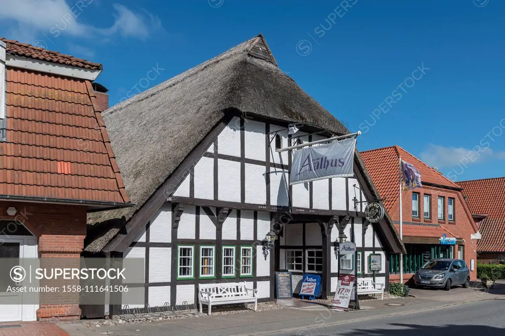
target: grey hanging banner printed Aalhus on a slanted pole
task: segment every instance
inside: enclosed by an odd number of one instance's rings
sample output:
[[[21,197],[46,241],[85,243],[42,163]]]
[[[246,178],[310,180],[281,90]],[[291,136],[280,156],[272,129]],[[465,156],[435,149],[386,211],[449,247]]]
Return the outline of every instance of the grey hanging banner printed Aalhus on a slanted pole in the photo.
[[[289,184],[353,176],[355,148],[356,139],[349,138],[295,151]]]

